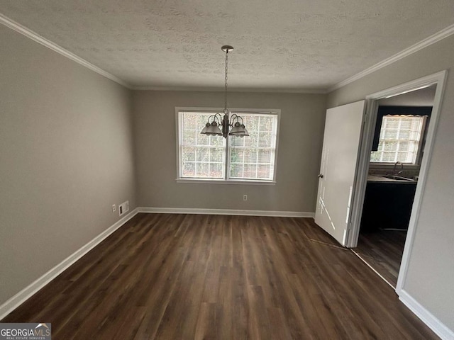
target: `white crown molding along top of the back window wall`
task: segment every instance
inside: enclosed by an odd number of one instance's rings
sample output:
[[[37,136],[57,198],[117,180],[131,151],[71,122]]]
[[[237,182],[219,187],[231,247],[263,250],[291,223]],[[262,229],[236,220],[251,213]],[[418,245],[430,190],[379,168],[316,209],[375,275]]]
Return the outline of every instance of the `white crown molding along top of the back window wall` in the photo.
[[[221,87],[195,87],[195,86],[133,86],[135,91],[211,91],[223,92]],[[327,94],[326,89],[255,89],[229,87],[228,92],[259,92],[262,94]]]

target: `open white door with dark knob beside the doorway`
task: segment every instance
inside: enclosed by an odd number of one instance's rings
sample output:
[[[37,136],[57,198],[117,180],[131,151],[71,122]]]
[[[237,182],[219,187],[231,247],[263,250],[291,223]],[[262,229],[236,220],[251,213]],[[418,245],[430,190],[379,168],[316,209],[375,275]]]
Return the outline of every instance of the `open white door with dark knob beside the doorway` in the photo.
[[[326,111],[315,222],[345,246],[365,101]]]

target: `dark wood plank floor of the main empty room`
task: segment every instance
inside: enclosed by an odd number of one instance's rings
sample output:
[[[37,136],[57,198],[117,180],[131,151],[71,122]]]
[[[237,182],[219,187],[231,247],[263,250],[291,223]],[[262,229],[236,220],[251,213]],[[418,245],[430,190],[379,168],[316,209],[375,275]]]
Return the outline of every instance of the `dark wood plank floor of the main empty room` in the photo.
[[[438,339],[352,251],[287,217],[138,214],[2,322],[52,339]]]

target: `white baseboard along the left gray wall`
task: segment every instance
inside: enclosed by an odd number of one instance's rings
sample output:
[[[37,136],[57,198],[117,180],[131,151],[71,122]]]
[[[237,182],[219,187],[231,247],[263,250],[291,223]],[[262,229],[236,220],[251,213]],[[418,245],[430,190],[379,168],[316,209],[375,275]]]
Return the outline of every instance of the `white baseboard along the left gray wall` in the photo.
[[[51,280],[56,278],[62,271],[65,271],[66,268],[72,265],[72,263],[76,262],[78,259],[80,259],[82,256],[87,254],[90,250],[92,250],[95,246],[97,246],[99,243],[101,243],[106,237],[108,237],[110,234],[116,231],[119,227],[124,225],[128,220],[131,220],[135,215],[137,215],[138,209],[135,208],[132,210],[128,215],[125,215],[123,218],[118,220],[117,222],[114,223],[114,225],[111,225],[111,227],[107,228],[104,230],[104,232],[101,232],[98,236],[96,236],[92,241],[88,242],[82,248],[78,249],[75,251],[73,254],[68,256],[66,259],[61,261],[60,263],[57,264],[54,268],[50,269],[47,273],[45,273],[43,276],[35,280],[33,283],[28,285],[26,288],[23,288],[19,293],[11,297],[8,301],[4,302],[3,305],[0,306],[0,319],[3,319],[11,313],[13,310],[15,310],[19,305],[21,305],[23,302],[25,302],[29,297],[31,297],[33,294],[38,292],[41,288],[43,288],[45,285],[47,285]]]

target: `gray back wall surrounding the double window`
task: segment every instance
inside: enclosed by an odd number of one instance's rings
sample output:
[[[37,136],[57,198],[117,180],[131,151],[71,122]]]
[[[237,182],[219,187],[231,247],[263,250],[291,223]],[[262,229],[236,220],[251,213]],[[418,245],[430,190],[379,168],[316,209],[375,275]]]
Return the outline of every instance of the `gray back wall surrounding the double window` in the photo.
[[[138,205],[314,212],[326,95],[230,93],[228,99],[232,108],[281,109],[277,184],[177,183],[175,106],[219,107],[223,93],[135,91]]]

